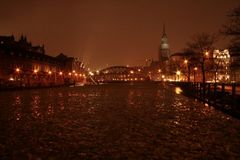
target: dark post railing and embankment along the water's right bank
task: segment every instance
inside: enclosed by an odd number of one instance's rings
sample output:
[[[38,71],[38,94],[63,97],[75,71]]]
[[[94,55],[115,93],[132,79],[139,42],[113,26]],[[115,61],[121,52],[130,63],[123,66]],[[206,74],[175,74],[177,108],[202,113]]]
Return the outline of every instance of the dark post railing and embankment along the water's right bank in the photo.
[[[196,98],[240,118],[239,83],[171,82],[186,96]]]

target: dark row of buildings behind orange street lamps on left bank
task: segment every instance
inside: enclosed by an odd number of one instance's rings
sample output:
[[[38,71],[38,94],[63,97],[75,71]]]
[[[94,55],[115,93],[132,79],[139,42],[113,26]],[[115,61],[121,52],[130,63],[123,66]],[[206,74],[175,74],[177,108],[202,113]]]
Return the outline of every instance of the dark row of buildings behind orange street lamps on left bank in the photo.
[[[72,73],[74,72],[74,73]],[[45,54],[44,45],[33,46],[21,36],[0,36],[0,85],[2,87],[57,86],[80,81],[82,62],[60,54]]]

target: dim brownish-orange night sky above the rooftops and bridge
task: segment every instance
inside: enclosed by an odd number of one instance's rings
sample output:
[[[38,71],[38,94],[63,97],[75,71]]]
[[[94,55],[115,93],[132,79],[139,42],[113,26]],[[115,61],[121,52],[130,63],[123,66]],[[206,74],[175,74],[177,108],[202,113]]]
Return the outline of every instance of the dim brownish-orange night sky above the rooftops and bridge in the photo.
[[[83,58],[90,67],[157,59],[162,25],[171,52],[193,34],[218,32],[239,0],[0,0],[0,35],[24,34],[47,54]],[[226,40],[217,47],[224,48]]]

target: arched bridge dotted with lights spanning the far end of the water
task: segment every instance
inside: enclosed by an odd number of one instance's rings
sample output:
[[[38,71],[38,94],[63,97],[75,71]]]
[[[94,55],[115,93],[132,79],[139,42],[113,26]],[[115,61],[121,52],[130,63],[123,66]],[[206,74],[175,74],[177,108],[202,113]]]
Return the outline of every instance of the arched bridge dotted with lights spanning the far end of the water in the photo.
[[[128,82],[149,80],[144,67],[111,66],[94,73],[96,82]]]

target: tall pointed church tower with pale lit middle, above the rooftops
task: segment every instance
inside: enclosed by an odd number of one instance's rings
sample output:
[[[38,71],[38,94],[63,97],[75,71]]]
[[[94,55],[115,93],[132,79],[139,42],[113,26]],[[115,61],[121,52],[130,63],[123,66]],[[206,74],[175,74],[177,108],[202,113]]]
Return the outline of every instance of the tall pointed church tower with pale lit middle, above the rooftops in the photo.
[[[158,60],[159,62],[167,61],[170,57],[170,50],[168,44],[168,38],[165,31],[165,25],[163,25],[163,35],[161,39],[161,45],[159,47]]]

